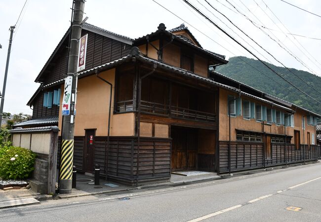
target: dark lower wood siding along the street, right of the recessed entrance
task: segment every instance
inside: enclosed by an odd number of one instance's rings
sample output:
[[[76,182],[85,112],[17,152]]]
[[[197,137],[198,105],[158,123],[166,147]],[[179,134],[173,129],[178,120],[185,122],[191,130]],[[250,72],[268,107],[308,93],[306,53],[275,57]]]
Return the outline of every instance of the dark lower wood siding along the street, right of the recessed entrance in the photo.
[[[317,159],[317,146],[301,145],[300,150],[294,144],[272,143],[272,158],[264,158],[263,143],[231,142],[231,171],[262,168],[287,163],[303,162]],[[229,172],[228,141],[219,142],[219,173]],[[284,154],[286,153],[286,155]],[[304,158],[305,156],[305,158]]]

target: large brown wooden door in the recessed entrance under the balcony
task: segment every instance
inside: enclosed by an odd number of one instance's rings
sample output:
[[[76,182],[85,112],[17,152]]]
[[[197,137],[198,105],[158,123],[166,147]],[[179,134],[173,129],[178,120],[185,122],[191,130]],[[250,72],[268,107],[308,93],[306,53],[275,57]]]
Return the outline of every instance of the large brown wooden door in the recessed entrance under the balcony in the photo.
[[[171,169],[196,169],[198,137],[197,130],[187,128],[171,128],[172,153]]]

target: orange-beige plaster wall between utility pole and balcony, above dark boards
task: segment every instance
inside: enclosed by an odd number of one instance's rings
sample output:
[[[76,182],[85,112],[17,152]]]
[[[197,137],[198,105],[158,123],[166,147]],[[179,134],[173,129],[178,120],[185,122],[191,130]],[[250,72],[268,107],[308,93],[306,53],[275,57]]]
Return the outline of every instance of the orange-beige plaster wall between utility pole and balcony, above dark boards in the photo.
[[[111,108],[111,136],[134,135],[134,113],[115,114],[115,69],[99,74],[102,78],[113,84],[112,108]],[[61,95],[61,101],[62,101]],[[85,129],[96,129],[96,136],[106,136],[108,132],[110,86],[90,75],[78,80],[77,104],[75,118],[75,136],[84,136]],[[61,129],[62,115],[59,110],[59,129]],[[59,132],[61,135],[61,131]]]

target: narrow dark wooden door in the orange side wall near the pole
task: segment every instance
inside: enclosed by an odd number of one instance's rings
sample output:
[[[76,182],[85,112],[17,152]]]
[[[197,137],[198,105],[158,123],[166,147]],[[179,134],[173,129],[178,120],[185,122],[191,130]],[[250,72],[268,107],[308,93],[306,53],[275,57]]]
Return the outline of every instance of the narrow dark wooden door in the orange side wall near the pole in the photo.
[[[87,173],[94,171],[94,145],[93,137],[95,136],[94,129],[85,130],[85,152],[84,152],[84,169]]]

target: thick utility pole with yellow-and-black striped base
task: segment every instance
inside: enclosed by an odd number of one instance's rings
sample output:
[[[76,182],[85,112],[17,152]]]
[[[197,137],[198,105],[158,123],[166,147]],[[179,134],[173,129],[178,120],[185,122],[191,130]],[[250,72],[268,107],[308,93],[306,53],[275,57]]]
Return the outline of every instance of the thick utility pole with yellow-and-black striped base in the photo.
[[[59,193],[71,193],[72,189],[72,174],[73,174],[73,155],[74,155],[74,127],[75,127],[75,105],[77,93],[77,64],[78,64],[78,50],[79,39],[81,37],[81,21],[83,15],[84,0],[74,0],[74,17],[71,27],[70,51],[68,58],[67,78],[65,80],[65,90],[68,84],[71,86],[70,110],[68,114],[63,115],[62,123],[62,143],[61,143],[61,157],[60,157],[60,171],[59,171]],[[72,77],[70,83],[67,79]],[[65,96],[64,96],[65,98]]]

